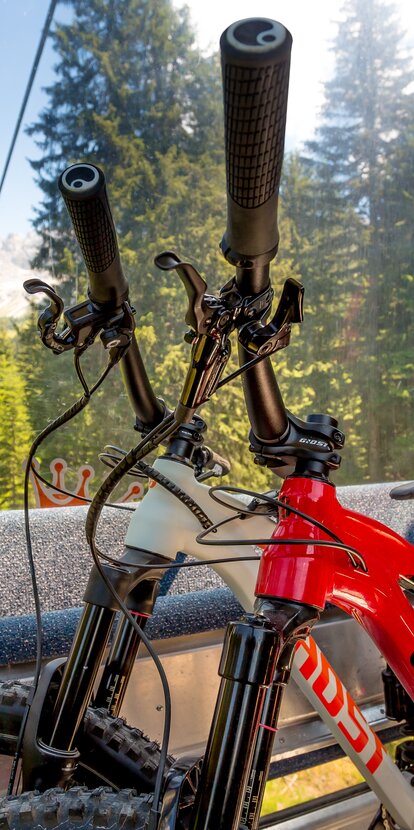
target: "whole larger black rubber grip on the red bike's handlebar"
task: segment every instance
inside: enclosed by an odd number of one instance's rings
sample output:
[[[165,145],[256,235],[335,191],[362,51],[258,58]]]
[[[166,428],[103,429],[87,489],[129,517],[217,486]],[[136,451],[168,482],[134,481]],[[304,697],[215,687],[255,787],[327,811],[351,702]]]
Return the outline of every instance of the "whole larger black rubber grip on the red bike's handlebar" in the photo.
[[[220,39],[227,173],[221,248],[242,268],[277,252],[291,47],[288,30],[267,18],[233,23]]]

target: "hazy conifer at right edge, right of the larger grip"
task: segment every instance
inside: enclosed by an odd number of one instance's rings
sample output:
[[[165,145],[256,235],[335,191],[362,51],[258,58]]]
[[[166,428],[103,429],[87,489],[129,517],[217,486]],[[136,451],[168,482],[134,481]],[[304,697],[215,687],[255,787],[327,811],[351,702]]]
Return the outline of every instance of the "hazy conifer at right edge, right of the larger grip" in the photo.
[[[401,261],[401,227],[392,231],[407,213],[407,199],[393,179],[401,153],[407,165],[412,162],[405,136],[413,73],[391,6],[383,0],[347,0],[343,15],[334,76],[326,84],[322,123],[309,150],[325,211],[318,233],[333,266],[325,279],[331,280],[343,314],[343,343],[335,360],[339,373],[346,367],[357,407],[360,461],[369,447],[366,474],[378,480],[385,473],[403,474],[404,462],[396,462],[390,438],[409,421],[409,401],[402,396],[409,384],[408,340],[402,354],[401,327],[396,330],[392,320],[404,316],[409,295],[401,271],[412,273],[412,261]],[[342,228],[340,244],[332,216]],[[401,360],[400,388],[392,380],[396,360]]]

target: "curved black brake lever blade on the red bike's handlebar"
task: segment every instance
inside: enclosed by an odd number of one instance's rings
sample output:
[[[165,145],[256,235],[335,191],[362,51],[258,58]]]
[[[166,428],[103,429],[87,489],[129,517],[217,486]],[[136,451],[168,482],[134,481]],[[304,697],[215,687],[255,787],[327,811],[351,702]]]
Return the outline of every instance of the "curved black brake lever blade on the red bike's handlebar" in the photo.
[[[206,334],[211,309],[205,302],[207,283],[189,262],[182,262],[174,251],[163,251],[154,260],[161,271],[177,271],[188,297],[188,310],[185,322],[197,334]]]

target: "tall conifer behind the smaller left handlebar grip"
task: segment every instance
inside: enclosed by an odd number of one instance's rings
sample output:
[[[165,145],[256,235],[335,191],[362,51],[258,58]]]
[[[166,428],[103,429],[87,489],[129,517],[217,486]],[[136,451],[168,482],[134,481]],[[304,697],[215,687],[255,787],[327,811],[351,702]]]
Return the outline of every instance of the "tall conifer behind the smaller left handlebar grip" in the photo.
[[[142,270],[158,211],[165,200],[174,211],[180,195],[171,193],[166,172],[221,143],[217,62],[194,48],[187,14],[170,0],[72,6],[72,22],[53,35],[57,80],[29,129],[42,150],[32,164],[45,194],[34,223],[44,240],[36,264],[49,261],[51,245],[57,275],[68,265],[65,248],[79,263],[56,181],[68,164],[84,160],[103,167],[127,268],[141,252]]]

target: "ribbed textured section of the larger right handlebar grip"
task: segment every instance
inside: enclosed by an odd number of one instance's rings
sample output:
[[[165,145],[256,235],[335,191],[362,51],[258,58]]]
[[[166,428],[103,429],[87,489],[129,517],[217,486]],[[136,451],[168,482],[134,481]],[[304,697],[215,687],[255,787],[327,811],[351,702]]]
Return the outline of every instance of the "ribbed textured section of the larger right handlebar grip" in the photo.
[[[243,208],[264,204],[280,182],[289,60],[223,67],[227,186]]]

